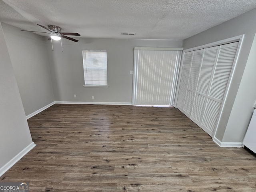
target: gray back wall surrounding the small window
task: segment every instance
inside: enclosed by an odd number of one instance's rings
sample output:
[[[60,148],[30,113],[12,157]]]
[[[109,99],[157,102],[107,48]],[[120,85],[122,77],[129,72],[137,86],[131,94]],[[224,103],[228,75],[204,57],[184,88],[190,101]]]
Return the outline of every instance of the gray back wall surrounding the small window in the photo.
[[[131,103],[133,75],[130,70],[133,70],[134,46],[182,46],[182,41],[177,40],[76,39],[79,42],[63,39],[63,52],[60,42],[53,42],[54,51],[50,41],[47,42],[55,101]],[[108,88],[83,87],[82,50],[107,50]]]

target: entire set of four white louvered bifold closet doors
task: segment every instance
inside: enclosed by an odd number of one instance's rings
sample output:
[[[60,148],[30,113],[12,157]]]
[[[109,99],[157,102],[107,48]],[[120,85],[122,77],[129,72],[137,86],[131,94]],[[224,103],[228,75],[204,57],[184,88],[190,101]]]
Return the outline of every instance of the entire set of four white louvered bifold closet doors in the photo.
[[[226,94],[238,42],[186,52],[177,108],[212,136]]]

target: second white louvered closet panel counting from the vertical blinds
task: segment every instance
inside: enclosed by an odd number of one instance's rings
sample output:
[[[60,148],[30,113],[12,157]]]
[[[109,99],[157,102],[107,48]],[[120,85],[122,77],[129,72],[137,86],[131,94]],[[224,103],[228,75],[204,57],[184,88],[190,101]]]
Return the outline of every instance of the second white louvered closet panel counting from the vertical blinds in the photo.
[[[184,101],[183,113],[190,118],[192,106],[194,103],[194,96],[196,92],[196,86],[198,82],[198,74],[202,62],[202,56],[204,50],[197,50],[193,52],[192,62],[190,67],[190,73],[188,77],[188,86],[186,90],[186,96]]]

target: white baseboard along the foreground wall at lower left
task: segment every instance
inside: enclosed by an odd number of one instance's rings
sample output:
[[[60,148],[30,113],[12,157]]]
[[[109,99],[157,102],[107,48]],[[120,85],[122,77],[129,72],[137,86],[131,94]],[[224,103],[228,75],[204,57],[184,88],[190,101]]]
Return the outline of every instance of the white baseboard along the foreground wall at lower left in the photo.
[[[2,176],[6,171],[8,171],[16,162],[18,162],[24,155],[26,155],[36,144],[34,142],[30,143],[26,148],[19,152],[14,158],[12,158],[8,163],[0,168],[0,176]]]

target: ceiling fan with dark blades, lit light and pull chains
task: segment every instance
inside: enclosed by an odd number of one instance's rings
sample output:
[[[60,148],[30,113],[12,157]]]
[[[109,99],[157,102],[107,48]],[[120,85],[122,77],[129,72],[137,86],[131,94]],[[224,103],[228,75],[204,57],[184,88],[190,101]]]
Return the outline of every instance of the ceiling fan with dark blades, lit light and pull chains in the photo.
[[[61,38],[65,38],[65,39],[68,39],[68,40],[71,40],[71,41],[74,41],[74,42],[78,42],[78,40],[76,39],[73,39],[71,37],[68,37],[66,35],[74,35],[74,36],[80,36],[79,33],[65,33],[65,32],[60,32],[61,31],[61,28],[59,26],[56,26],[56,25],[48,25],[48,27],[46,26],[43,26],[43,25],[40,25],[40,24],[37,24],[38,26],[48,30],[49,32],[40,32],[40,31],[28,31],[28,32],[37,32],[37,33],[47,33],[47,34],[50,34],[50,38],[48,40],[60,40],[61,42]],[[27,31],[27,30],[22,30],[22,31]],[[61,48],[62,48],[62,42],[61,42]],[[53,46],[52,46],[52,50],[53,50]],[[63,50],[62,50],[63,51]]]

